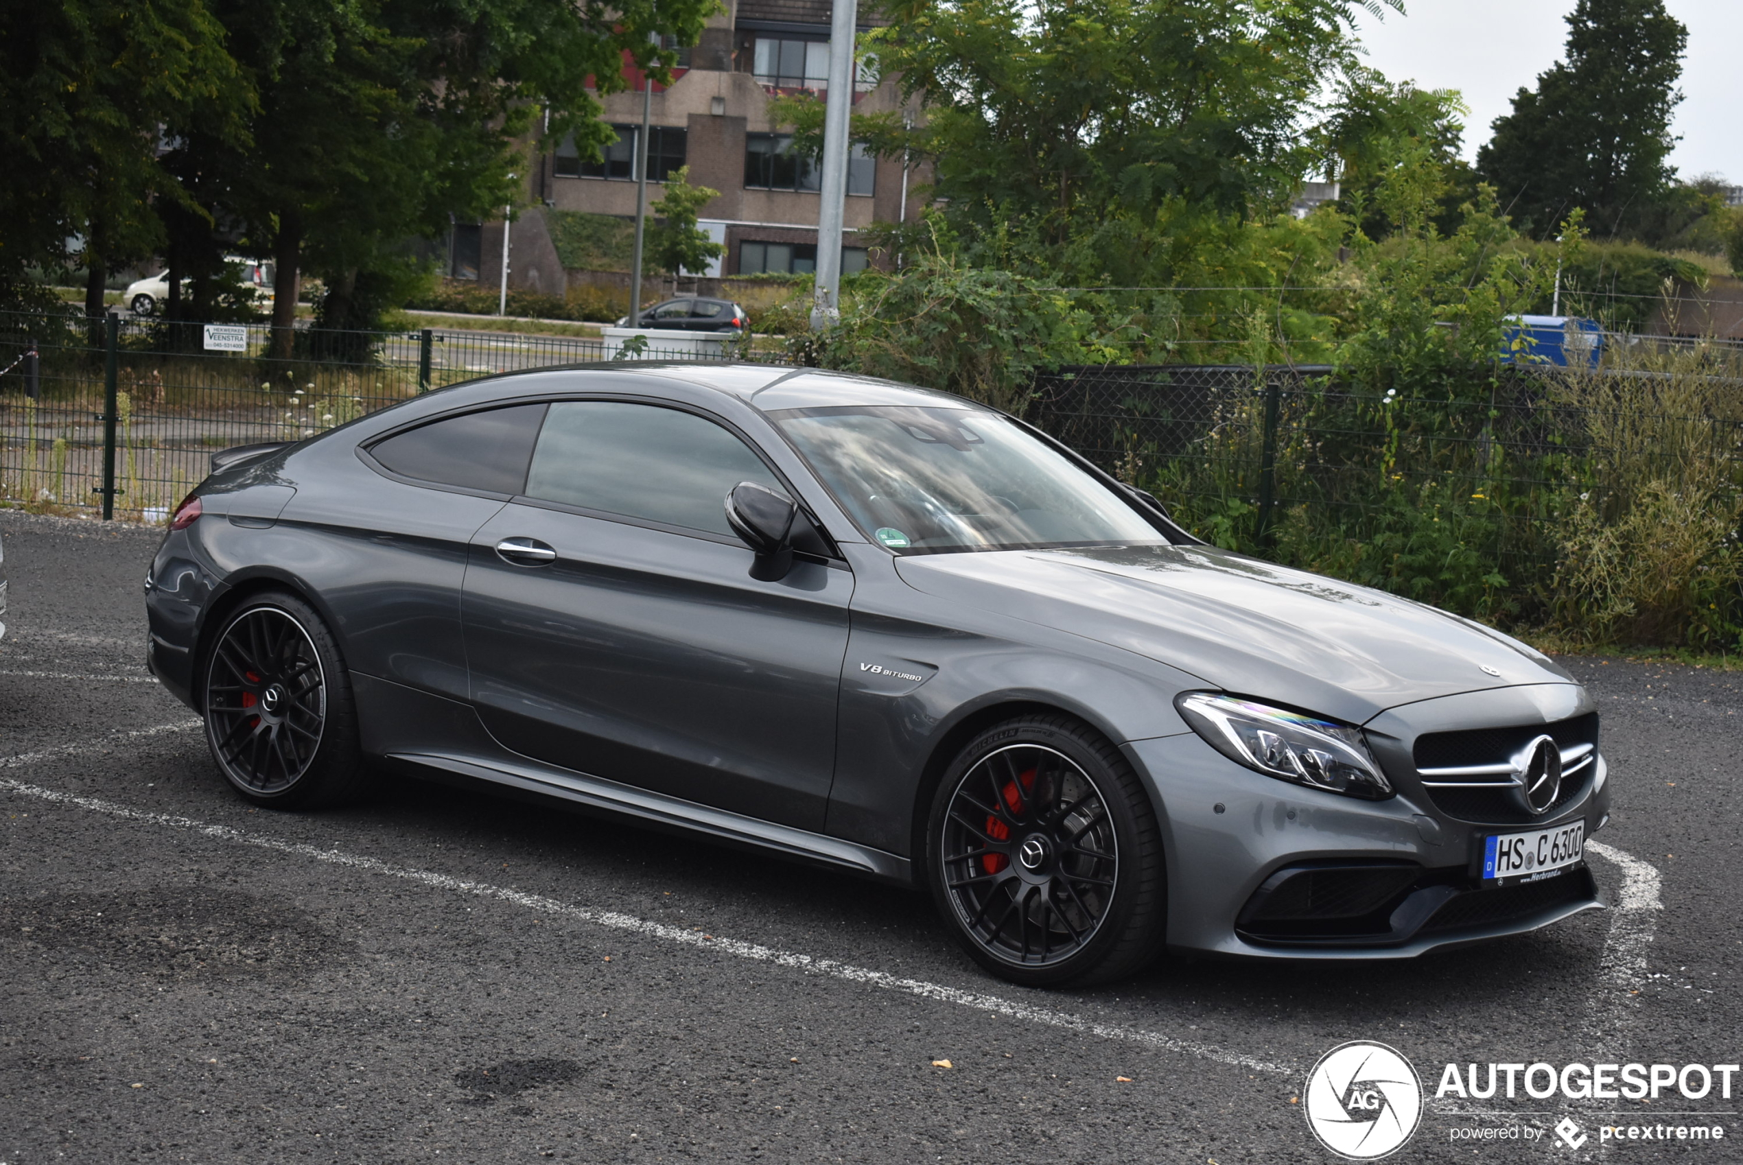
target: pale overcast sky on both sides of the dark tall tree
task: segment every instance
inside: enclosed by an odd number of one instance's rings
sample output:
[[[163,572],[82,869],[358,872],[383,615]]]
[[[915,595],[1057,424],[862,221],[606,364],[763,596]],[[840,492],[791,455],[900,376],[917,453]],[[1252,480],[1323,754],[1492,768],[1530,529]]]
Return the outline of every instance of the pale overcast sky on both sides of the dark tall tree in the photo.
[[[1682,141],[1670,160],[1684,178],[1713,172],[1743,183],[1743,0],[1665,7],[1689,28],[1675,120]],[[1536,85],[1537,73],[1562,57],[1574,0],[1405,0],[1405,10],[1387,9],[1386,21],[1363,17],[1368,63],[1391,80],[1461,91],[1471,106],[1464,153],[1475,158],[1520,85]]]

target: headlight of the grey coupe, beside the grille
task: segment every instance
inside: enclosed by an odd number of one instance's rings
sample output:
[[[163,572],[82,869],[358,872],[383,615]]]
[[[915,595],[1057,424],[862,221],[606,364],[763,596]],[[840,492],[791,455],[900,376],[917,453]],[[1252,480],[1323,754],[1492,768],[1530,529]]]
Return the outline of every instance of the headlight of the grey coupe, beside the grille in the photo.
[[[1370,801],[1393,796],[1356,728],[1210,691],[1182,693],[1175,707],[1206,744],[1265,777]]]

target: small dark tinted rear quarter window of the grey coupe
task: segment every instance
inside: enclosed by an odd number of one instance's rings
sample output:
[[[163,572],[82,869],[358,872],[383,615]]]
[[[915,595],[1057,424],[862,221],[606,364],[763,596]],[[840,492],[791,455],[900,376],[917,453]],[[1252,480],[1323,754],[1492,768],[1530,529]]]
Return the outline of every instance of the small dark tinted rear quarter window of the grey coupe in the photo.
[[[526,481],[544,413],[544,404],[514,404],[450,416],[389,437],[370,455],[418,481],[516,495]]]

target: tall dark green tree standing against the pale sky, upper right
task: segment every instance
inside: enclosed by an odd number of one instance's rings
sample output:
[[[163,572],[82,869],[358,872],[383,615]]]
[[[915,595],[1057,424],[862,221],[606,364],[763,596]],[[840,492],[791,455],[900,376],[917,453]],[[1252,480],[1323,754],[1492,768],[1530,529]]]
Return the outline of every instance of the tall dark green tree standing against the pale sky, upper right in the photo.
[[[1628,233],[1675,176],[1689,31],[1665,0],[1579,0],[1567,28],[1567,59],[1518,91],[1476,169],[1527,233],[1555,233],[1574,207],[1600,237]]]

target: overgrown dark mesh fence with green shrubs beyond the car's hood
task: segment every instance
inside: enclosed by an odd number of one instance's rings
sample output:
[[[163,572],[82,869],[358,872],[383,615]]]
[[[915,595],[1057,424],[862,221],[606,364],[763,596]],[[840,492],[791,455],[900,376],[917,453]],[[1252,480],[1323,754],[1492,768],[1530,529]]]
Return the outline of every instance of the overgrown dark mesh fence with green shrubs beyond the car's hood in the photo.
[[[1421,399],[1330,367],[1072,367],[1037,378],[1030,416],[1213,542],[1520,613],[1551,601],[1581,522],[1743,488],[1743,381],[1703,380],[1509,369]]]

